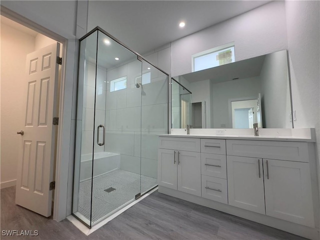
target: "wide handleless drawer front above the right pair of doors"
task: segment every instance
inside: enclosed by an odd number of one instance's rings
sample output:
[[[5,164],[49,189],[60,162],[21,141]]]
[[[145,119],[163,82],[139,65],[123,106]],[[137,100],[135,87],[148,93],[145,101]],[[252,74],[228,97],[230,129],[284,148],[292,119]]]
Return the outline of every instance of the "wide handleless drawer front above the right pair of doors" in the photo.
[[[226,140],[226,154],[308,162],[306,142]]]

